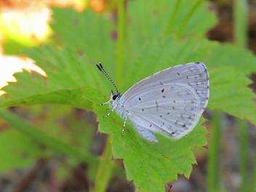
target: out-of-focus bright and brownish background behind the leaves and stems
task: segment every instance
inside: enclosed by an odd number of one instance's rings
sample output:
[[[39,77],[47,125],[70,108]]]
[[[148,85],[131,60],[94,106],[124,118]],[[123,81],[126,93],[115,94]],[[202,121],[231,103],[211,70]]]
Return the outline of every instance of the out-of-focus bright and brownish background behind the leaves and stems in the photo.
[[[135,1],[135,0],[127,0]],[[127,4],[124,1],[124,4]],[[209,12],[217,15],[217,24],[207,32],[207,39],[219,41],[220,43],[233,43],[234,35],[234,0],[212,0],[209,1]],[[248,49],[256,53],[256,1],[247,1],[248,12]],[[241,5],[242,6],[242,5]],[[0,0],[0,87],[7,86],[7,82],[16,81],[14,73],[23,69],[37,71],[42,76],[47,73],[34,64],[29,57],[20,56],[19,50],[29,47],[41,47],[42,44],[54,44],[62,41],[51,28],[52,9],[55,7],[64,9],[71,7],[76,12],[84,9],[92,9],[98,14],[107,15],[113,23],[116,23],[116,1],[111,0]],[[86,33],[86,31],[84,32]],[[111,34],[116,39],[116,33]],[[256,63],[255,63],[256,65]],[[249,76],[256,81],[256,74]],[[255,92],[255,84],[249,85]],[[4,91],[0,91],[4,95]],[[95,156],[103,153],[106,143],[106,135],[97,133],[97,122],[95,114],[79,108],[71,108],[60,105],[57,108],[52,105],[24,105],[10,107],[9,111],[17,114],[31,124],[36,125],[49,135],[61,137],[62,140],[72,143],[81,149],[88,149]],[[213,111],[204,112],[204,117],[209,119],[206,123],[211,132]],[[227,113],[217,113],[220,118],[221,135],[216,142],[217,169],[219,181],[217,191],[241,191],[241,180],[247,178],[248,182],[256,183],[255,169],[255,126],[247,124],[246,121],[238,121]],[[256,117],[255,117],[256,118]],[[247,137],[244,145],[239,144],[239,126],[247,127]],[[81,130],[73,127],[91,127]],[[94,185],[91,180],[95,171],[88,170],[88,165],[75,158],[55,153],[51,149],[38,143],[31,143],[27,137],[12,132],[12,128],[0,119],[0,192],[7,191],[89,191]],[[79,135],[89,135],[87,140]],[[207,135],[209,139],[209,135]],[[9,142],[11,140],[11,142]],[[19,143],[16,141],[19,140]],[[20,140],[22,142],[20,142]],[[8,143],[8,147],[4,148]],[[22,143],[22,144],[20,144]],[[31,148],[36,145],[36,151]],[[27,151],[23,149],[26,148]],[[206,146],[207,148],[207,146]],[[241,150],[241,148],[243,148]],[[12,151],[13,150],[13,151]],[[241,165],[241,151],[245,153],[245,163]],[[12,155],[9,153],[12,152]],[[15,156],[15,154],[18,154]],[[173,183],[171,191],[209,191],[207,180],[209,176],[209,156],[206,150],[195,151],[198,165],[193,165],[191,177],[187,180],[180,175],[177,182]],[[4,161],[4,167],[1,167]],[[122,167],[122,161],[117,160]],[[215,162],[216,164],[216,162]],[[255,164],[255,165],[254,165]],[[241,169],[244,176],[241,176]],[[245,182],[246,183],[246,182]],[[167,188],[167,191],[169,189]],[[124,172],[111,177],[108,185],[109,192],[112,191],[135,191],[132,183],[127,183]]]

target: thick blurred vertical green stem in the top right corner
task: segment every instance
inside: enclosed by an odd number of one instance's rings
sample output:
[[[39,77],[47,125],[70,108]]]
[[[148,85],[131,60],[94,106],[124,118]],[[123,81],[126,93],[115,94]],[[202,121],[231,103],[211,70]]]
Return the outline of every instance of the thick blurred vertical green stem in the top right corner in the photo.
[[[234,37],[238,47],[247,47],[248,5],[247,0],[235,0]]]

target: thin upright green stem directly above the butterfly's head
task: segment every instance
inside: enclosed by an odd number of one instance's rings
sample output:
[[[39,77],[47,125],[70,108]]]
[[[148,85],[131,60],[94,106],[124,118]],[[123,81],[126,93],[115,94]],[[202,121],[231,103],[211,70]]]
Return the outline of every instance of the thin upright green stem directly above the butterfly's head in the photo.
[[[123,73],[123,54],[124,54],[124,0],[117,0],[118,7],[118,37],[117,37],[117,59],[116,59],[116,83],[117,87],[121,84]]]

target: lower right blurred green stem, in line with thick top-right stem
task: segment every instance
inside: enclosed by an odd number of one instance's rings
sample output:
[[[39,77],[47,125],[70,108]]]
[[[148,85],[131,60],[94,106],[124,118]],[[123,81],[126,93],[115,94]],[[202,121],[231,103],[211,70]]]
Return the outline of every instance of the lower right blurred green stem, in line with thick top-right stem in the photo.
[[[247,191],[247,153],[248,153],[248,134],[247,122],[239,119],[239,151],[240,151],[240,191]]]

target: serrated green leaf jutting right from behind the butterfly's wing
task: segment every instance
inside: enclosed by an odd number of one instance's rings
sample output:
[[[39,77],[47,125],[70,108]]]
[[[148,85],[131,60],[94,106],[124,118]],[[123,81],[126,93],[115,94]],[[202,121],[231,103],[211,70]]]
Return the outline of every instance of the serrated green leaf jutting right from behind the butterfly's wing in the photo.
[[[252,81],[231,66],[209,68],[209,74],[208,107],[256,124],[255,94],[247,87]]]

